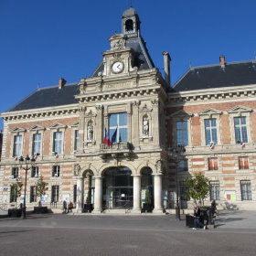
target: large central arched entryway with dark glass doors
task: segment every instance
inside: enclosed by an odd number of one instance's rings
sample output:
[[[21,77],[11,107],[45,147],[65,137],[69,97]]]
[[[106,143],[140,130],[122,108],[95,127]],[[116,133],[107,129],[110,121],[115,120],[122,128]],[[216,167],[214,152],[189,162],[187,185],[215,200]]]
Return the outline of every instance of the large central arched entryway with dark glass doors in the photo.
[[[128,167],[107,168],[102,175],[102,207],[133,208],[133,176]]]

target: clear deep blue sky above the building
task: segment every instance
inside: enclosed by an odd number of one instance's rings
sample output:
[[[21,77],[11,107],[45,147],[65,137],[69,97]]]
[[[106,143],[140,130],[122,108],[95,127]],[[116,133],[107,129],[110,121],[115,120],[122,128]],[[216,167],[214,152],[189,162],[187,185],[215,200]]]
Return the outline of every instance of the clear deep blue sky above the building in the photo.
[[[1,0],[0,112],[40,87],[90,76],[121,32],[130,0]],[[155,66],[172,57],[174,83],[192,66],[254,59],[255,0],[133,0]],[[3,123],[0,123],[0,129]]]

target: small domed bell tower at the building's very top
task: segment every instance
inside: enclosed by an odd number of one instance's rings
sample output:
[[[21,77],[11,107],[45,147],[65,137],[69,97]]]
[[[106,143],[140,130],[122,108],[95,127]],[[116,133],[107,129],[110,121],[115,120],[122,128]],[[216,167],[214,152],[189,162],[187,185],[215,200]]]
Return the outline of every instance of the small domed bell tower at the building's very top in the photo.
[[[123,12],[122,28],[123,35],[127,37],[139,37],[140,35],[140,18],[134,8],[129,8]]]

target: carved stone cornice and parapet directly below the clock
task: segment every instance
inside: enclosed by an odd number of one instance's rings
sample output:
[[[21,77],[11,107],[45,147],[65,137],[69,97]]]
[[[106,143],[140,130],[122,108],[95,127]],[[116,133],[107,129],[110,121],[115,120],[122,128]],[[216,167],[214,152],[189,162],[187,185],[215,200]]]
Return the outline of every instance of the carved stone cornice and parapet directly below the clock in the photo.
[[[158,69],[130,72],[123,76],[101,76],[82,79],[79,83],[80,102],[112,101],[124,97],[165,94],[165,83]]]

